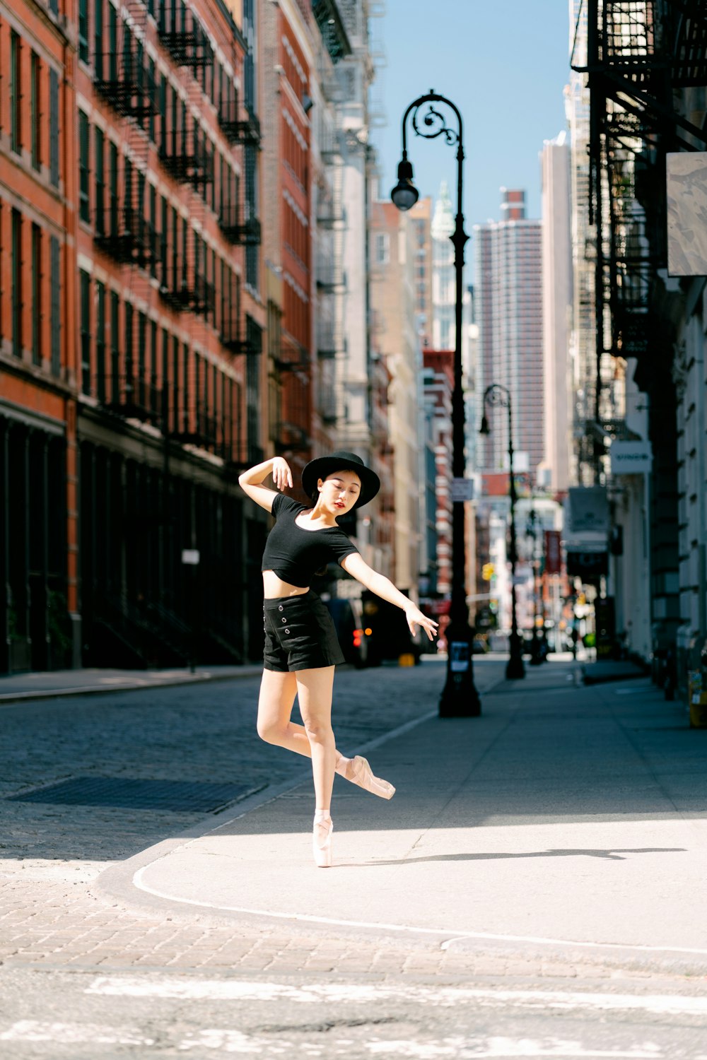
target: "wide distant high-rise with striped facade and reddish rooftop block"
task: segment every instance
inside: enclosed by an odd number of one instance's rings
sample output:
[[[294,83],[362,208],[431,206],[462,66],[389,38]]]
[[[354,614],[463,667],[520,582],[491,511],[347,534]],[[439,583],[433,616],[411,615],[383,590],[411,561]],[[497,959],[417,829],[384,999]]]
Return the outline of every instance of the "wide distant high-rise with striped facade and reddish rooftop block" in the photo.
[[[526,193],[501,189],[501,220],[474,226],[479,390],[499,383],[511,393],[513,447],[530,467],[543,458],[542,224],[526,217]],[[505,409],[492,419],[480,464],[503,467],[508,453]],[[518,464],[516,464],[518,466]]]

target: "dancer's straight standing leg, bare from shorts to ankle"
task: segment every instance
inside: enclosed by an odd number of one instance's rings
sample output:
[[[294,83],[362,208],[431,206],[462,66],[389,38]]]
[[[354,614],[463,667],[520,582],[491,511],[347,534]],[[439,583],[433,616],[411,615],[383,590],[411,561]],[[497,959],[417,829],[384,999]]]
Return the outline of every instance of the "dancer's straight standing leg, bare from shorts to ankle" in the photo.
[[[334,767],[337,760],[332,729],[332,691],[334,667],[298,670],[297,694],[312,754],[312,774],[317,810],[329,811],[332,805]]]

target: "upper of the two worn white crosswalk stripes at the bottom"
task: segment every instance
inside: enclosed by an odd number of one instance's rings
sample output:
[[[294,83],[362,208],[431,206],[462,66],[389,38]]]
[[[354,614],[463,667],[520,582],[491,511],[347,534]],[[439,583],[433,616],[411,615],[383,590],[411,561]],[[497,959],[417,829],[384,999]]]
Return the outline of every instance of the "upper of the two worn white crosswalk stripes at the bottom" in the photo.
[[[187,1001],[294,1001],[302,1004],[371,1004],[381,1001],[453,1007],[479,1004],[491,1008],[593,1011],[640,1011],[658,1015],[707,1017],[707,996],[681,994],[613,994],[569,990],[492,990],[463,987],[407,987],[386,984],[314,983],[290,986],[244,979],[143,979],[101,975],[85,993],[119,997],[176,997]]]

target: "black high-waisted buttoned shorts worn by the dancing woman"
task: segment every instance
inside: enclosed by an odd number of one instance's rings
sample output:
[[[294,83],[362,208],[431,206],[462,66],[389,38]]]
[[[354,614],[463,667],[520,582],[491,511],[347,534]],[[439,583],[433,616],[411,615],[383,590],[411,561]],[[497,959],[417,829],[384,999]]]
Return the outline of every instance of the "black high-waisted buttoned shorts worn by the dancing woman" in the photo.
[[[263,628],[266,670],[287,673],[343,662],[332,616],[312,589],[265,600]]]

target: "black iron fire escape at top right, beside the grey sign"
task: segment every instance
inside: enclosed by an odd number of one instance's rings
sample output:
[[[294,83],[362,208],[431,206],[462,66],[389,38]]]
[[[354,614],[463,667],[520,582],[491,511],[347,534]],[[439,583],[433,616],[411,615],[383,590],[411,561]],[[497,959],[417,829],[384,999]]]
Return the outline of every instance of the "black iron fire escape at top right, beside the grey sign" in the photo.
[[[593,462],[602,470],[604,438],[621,437],[607,419],[606,355],[636,357],[642,385],[665,349],[665,314],[655,311],[666,267],[666,154],[704,151],[707,130],[676,109],[676,89],[707,85],[707,15],[699,0],[586,0],[590,95],[589,223],[597,225],[597,381]]]

